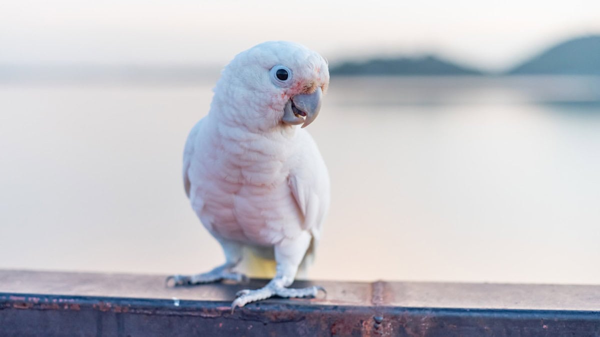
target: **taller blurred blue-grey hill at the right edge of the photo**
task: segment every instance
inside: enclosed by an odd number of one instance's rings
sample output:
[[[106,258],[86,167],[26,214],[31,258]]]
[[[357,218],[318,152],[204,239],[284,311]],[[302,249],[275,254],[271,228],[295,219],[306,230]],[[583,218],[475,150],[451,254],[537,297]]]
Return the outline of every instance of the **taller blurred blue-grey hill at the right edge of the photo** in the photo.
[[[560,43],[508,74],[600,75],[600,35]]]

